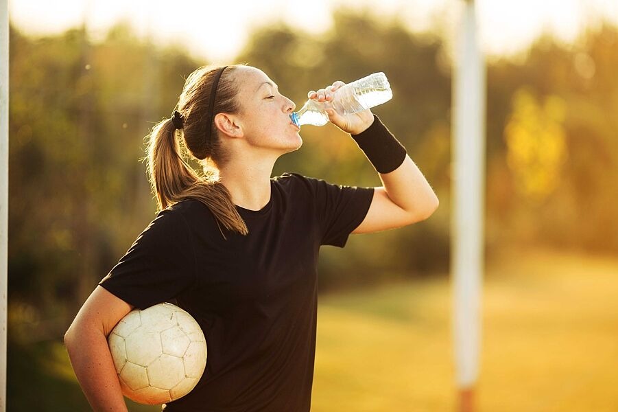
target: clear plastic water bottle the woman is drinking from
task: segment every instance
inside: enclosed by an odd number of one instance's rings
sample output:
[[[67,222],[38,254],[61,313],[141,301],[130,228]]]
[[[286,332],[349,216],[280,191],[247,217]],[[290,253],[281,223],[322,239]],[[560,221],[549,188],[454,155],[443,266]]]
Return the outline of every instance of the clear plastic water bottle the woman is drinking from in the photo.
[[[316,100],[307,100],[299,111],[292,113],[289,117],[296,126],[303,124],[324,126],[329,122],[326,108],[333,108],[340,115],[350,115],[388,102],[392,97],[386,75],[382,72],[373,73],[337,89],[331,102],[320,103]]]

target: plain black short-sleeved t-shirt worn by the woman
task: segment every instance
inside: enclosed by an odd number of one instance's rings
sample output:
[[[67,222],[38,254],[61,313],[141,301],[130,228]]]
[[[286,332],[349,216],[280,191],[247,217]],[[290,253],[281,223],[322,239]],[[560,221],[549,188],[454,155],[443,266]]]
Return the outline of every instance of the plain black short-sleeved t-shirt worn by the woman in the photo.
[[[198,201],[158,214],[99,284],[141,309],[176,299],[200,323],[206,370],[166,412],[309,411],[318,251],[344,247],[372,196],[286,173],[263,209],[237,207],[249,234],[227,240]]]

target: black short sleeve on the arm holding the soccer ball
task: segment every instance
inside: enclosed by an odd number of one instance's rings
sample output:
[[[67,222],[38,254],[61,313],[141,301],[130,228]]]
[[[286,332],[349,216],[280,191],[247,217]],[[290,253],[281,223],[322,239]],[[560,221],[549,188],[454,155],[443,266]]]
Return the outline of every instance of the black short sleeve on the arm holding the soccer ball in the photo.
[[[145,309],[174,299],[194,282],[195,253],[189,225],[180,211],[165,209],[99,285]]]

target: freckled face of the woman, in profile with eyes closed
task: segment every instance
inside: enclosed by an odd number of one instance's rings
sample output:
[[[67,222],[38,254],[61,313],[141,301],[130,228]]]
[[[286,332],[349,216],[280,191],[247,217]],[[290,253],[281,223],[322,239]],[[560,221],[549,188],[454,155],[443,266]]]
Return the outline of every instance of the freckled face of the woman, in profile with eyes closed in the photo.
[[[289,118],[296,107],[294,102],[279,93],[276,84],[260,69],[237,67],[235,76],[239,82],[239,122],[247,143],[283,152],[300,148],[300,128]]]

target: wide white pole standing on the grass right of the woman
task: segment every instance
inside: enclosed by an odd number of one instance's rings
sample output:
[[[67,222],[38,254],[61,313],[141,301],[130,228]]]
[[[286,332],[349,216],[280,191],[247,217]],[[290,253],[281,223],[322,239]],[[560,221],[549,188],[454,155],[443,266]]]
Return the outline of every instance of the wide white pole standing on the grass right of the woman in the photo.
[[[466,0],[453,67],[453,335],[460,411],[473,411],[479,375],[485,177],[485,68],[476,33],[475,4]]]

